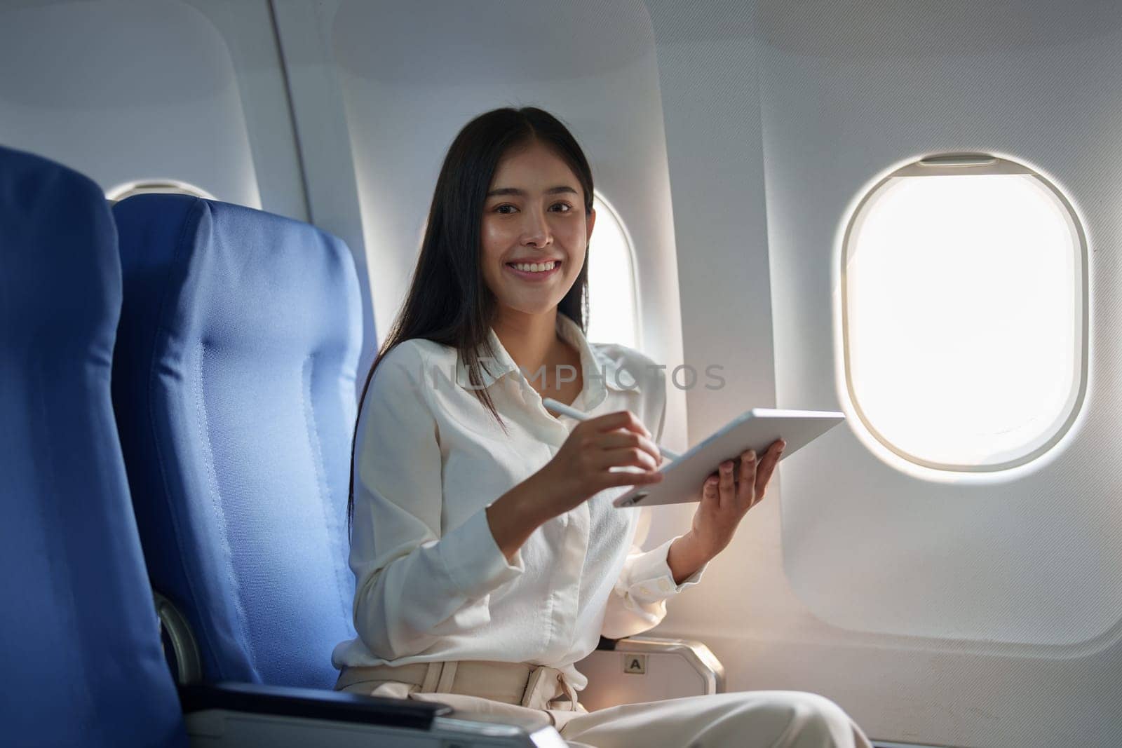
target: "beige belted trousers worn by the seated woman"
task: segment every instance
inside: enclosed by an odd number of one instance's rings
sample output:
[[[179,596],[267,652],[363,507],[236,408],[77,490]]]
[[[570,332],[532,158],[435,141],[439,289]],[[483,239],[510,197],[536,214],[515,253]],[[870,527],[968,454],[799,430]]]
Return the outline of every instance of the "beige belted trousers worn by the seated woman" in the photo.
[[[480,661],[347,668],[335,689],[535,719],[553,724],[571,748],[872,748],[840,707],[801,691],[736,691],[589,712],[557,668]]]

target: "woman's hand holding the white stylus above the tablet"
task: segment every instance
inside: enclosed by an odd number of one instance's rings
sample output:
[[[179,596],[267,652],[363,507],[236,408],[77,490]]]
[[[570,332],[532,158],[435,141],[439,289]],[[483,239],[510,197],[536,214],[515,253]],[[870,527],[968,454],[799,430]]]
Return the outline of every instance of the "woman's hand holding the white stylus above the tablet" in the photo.
[[[550,517],[569,511],[606,488],[662,480],[662,455],[651,433],[631,410],[617,410],[577,424],[545,467],[531,480],[542,487]],[[610,470],[635,467],[643,472]]]

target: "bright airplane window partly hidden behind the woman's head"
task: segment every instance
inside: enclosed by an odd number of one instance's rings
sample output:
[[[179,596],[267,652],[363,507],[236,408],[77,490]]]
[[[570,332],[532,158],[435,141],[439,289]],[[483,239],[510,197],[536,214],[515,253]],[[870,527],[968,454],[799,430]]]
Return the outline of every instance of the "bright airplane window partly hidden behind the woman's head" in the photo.
[[[641,347],[635,261],[619,214],[594,194],[596,228],[588,242],[588,340]]]

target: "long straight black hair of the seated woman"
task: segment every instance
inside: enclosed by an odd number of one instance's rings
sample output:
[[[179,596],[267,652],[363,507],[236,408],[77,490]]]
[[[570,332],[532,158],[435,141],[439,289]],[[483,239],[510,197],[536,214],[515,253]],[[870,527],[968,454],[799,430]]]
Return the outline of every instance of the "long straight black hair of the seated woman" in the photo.
[[[506,424],[495,409],[487,389],[480,386],[481,364],[477,355],[480,345],[487,349],[488,355],[496,353],[487,345],[497,302],[482,275],[482,211],[499,159],[509,150],[535,141],[551,148],[572,169],[585,191],[585,214],[591,214],[592,170],[572,133],[555,117],[535,107],[507,107],[485,112],[463,126],[449,146],[440,168],[410,293],[366,376],[359,397],[360,410],[381,358],[403,341],[423,338],[459,351],[475,385],[471,391],[506,432]],[[558,304],[558,313],[580,325],[581,331],[587,329],[587,251],[580,275]],[[347,497],[348,527],[355,514],[357,438],[356,419]]]

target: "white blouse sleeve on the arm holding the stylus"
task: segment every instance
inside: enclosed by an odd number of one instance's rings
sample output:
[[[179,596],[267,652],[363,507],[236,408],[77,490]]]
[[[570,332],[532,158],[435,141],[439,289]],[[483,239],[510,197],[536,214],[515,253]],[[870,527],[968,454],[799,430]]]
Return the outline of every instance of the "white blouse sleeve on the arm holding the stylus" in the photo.
[[[432,646],[453,616],[486,624],[486,602],[473,603],[525,571],[521,550],[513,564],[499,550],[486,508],[441,534],[441,451],[425,371],[408,341],[385,355],[355,445],[355,628],[384,659]]]

